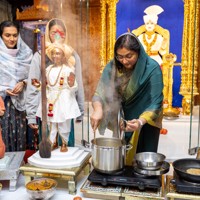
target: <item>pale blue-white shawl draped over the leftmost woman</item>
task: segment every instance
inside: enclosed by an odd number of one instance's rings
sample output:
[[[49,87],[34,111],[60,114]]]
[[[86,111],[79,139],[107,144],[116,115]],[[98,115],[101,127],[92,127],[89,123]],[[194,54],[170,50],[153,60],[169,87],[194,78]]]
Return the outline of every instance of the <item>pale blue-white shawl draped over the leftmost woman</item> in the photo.
[[[28,78],[32,50],[18,36],[17,48],[8,49],[0,38],[0,96],[6,97],[6,90]],[[15,108],[25,110],[25,90],[16,97],[11,97]]]

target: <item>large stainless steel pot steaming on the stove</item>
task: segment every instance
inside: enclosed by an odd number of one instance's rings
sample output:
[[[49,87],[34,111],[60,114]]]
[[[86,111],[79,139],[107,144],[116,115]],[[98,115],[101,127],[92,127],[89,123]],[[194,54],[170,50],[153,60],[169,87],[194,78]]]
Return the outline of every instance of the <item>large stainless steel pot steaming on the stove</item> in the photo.
[[[92,143],[92,165],[95,170],[110,174],[123,169],[126,144],[119,138],[96,138]]]

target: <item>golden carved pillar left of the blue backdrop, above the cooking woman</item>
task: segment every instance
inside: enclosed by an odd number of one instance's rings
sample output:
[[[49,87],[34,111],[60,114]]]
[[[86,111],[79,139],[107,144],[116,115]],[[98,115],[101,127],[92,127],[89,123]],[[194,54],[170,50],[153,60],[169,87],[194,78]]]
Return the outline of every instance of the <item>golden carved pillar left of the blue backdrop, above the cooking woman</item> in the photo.
[[[113,58],[116,39],[116,4],[119,0],[100,0],[101,6],[101,72]]]

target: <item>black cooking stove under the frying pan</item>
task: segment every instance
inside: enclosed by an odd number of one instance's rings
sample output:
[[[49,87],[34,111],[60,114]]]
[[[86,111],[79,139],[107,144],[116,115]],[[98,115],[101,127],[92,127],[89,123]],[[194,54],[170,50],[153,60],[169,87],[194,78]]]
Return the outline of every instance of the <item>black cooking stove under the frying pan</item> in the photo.
[[[176,172],[174,172],[174,178],[171,180],[171,183],[175,185],[176,191],[179,193],[200,194],[200,183],[183,180]]]

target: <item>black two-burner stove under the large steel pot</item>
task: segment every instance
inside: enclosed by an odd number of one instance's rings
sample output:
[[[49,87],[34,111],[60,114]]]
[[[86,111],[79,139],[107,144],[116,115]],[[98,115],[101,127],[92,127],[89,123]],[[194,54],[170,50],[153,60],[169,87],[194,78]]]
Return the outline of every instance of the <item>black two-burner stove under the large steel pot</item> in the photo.
[[[146,176],[133,170],[132,166],[125,166],[122,171],[115,174],[103,174],[95,169],[88,176],[93,183],[100,183],[103,186],[121,185],[137,187],[139,190],[146,188],[158,189],[162,185],[161,176]]]

